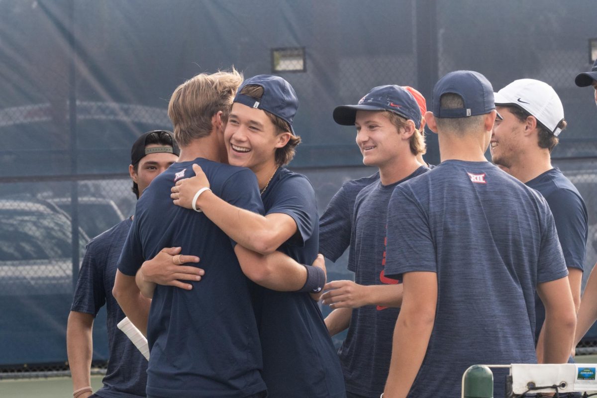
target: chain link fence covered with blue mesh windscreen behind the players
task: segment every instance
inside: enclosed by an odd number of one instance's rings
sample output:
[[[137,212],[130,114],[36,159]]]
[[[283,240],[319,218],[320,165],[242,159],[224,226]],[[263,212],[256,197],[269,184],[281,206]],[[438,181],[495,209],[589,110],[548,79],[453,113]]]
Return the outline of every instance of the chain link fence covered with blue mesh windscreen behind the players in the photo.
[[[312,181],[320,212],[344,181],[374,172],[361,165],[353,130],[333,122],[335,106],[383,84],[415,87],[430,104],[436,80],[456,69],[484,73],[496,90],[519,78],[553,85],[568,121],[554,164],[589,210],[586,282],[597,262],[597,110],[574,76],[589,70],[591,5],[0,2],[8,38],[0,40],[0,378],[67,372],[66,320],[85,244],[134,211],[131,144],[144,131],[171,129],[166,108],[177,85],[232,64],[296,89],[303,143],[291,166]],[[427,142],[426,160],[439,162],[435,134]],[[344,254],[328,264],[330,279],[352,278],[346,262]],[[589,335],[586,344],[597,345],[597,329]],[[101,367],[102,312],[93,338]]]

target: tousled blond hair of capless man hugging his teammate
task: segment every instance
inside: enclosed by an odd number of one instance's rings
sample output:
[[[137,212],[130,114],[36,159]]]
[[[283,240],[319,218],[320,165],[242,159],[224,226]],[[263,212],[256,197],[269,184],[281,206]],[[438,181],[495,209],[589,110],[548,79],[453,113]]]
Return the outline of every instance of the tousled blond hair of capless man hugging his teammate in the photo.
[[[242,74],[234,67],[230,72],[201,73],[174,90],[168,104],[168,116],[174,127],[174,139],[186,146],[192,140],[210,135],[211,118],[223,112],[227,121],[232,100],[242,83]]]

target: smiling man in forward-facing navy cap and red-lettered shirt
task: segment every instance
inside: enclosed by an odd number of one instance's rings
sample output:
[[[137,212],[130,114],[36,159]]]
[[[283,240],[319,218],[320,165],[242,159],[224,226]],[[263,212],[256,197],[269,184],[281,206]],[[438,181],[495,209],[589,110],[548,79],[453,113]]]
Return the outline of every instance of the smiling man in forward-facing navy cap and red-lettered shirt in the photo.
[[[406,88],[384,85],[356,105],[336,107],[333,116],[337,124],[356,127],[363,163],[379,172],[354,200],[348,269],[355,282],[326,285],[330,291],[322,298],[334,311],[325,322],[330,334],[348,326],[338,351],[347,397],[377,398],[386,382],[402,298],[402,285],[384,276],[387,202],[398,184],[428,170],[417,160],[425,149],[421,112]]]

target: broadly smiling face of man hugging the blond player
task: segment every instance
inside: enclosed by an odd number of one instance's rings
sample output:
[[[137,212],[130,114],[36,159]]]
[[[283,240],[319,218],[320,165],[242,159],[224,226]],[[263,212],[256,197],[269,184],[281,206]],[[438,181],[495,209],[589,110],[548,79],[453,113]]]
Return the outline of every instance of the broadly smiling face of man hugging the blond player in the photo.
[[[288,141],[284,134],[277,133],[264,110],[234,103],[224,130],[228,162],[254,172],[275,164],[276,149]]]

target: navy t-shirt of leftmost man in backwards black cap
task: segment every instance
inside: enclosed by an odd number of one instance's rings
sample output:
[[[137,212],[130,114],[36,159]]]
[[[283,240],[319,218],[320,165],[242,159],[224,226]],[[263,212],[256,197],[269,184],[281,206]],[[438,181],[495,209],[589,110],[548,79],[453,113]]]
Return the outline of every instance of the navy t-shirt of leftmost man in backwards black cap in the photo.
[[[116,327],[125,314],[112,295],[116,265],[132,223],[127,218],[87,244],[70,308],[95,317],[106,305],[110,360],[102,380],[104,385],[96,391],[103,398],[144,397],[147,384],[147,360]]]

